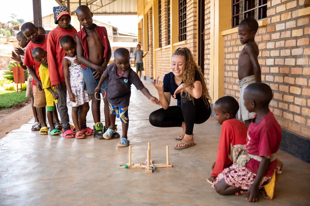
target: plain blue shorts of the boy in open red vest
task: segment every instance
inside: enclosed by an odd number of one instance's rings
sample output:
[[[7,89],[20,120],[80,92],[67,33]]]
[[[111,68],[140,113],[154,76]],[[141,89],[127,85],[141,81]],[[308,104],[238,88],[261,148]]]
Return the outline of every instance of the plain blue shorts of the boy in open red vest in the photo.
[[[102,65],[102,64],[101,64]],[[101,66],[99,65],[99,66]],[[93,72],[95,72],[95,69],[92,69],[90,67],[86,67],[86,69],[82,69],[83,74],[84,74],[84,86],[83,89],[88,92],[90,95],[95,94],[95,89],[99,84],[100,78],[95,79]],[[108,82],[109,82],[109,77],[107,77],[103,84],[101,85],[101,89],[104,89],[107,94],[108,94]],[[104,90],[101,90],[101,94],[104,94]]]

